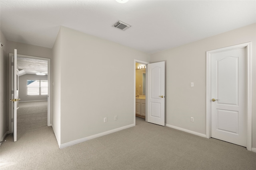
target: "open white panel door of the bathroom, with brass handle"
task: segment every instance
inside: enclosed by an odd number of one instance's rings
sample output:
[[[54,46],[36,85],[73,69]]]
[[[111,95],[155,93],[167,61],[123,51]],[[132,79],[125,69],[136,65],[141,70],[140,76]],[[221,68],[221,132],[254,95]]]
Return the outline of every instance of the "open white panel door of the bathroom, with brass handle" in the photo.
[[[147,121],[165,125],[165,62],[147,66]]]

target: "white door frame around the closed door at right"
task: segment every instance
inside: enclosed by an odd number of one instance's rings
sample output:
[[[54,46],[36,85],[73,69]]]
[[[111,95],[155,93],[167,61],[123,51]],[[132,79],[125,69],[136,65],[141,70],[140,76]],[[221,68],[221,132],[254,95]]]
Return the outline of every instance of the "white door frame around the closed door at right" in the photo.
[[[206,51],[206,138],[211,137],[211,55],[233,49],[246,48],[246,149],[252,150],[252,43],[242,43]]]

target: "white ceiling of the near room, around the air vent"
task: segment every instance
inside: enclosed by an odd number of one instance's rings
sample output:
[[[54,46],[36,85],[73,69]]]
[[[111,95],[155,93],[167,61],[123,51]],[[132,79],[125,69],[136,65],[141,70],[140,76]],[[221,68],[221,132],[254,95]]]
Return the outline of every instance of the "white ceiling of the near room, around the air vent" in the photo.
[[[63,25],[146,53],[256,22],[255,0],[1,0],[0,10],[9,41],[52,48]],[[132,27],[112,27],[118,20]]]

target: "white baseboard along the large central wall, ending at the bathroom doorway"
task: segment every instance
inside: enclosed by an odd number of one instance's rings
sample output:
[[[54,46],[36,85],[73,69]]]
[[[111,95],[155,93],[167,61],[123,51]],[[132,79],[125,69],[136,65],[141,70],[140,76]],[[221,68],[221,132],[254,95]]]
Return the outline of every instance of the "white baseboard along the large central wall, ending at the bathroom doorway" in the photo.
[[[89,137],[85,137],[85,138],[82,138],[82,139],[78,139],[78,140],[75,140],[75,141],[71,141],[71,142],[68,142],[68,143],[64,143],[64,144],[61,144],[60,145],[60,149],[63,149],[65,147],[70,147],[72,145],[76,145],[78,143],[81,143],[81,142],[84,142],[84,141],[88,141],[90,139],[94,139],[96,137],[101,137],[101,136],[104,136],[104,135],[108,135],[110,133],[114,133],[114,132],[117,132],[117,131],[121,131],[123,129],[127,129],[129,127],[133,127],[135,126],[135,124],[131,124],[131,125],[127,125],[127,126],[123,126],[123,127],[120,127],[120,128],[117,128],[117,129],[113,129],[113,130],[110,130],[110,131],[106,131],[106,132],[103,132],[103,133],[99,133],[99,134],[96,134],[96,135],[92,135],[92,136],[89,136]]]

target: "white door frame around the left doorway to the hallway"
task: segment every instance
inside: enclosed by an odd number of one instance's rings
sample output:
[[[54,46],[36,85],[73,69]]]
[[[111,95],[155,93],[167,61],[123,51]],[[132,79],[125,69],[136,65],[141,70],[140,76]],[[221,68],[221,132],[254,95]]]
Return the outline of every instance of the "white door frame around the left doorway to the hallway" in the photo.
[[[9,66],[11,65],[11,55],[14,55],[13,53],[9,53]],[[23,57],[23,58],[30,58],[30,59],[38,59],[38,60],[45,60],[48,61],[48,101],[47,101],[47,126],[51,126],[51,60],[49,58],[43,58],[43,57],[35,57],[35,56],[28,56],[28,55],[20,55],[17,54],[17,57]],[[9,68],[9,72],[10,72],[11,68]],[[10,75],[10,73],[9,73]],[[9,76],[10,77],[10,76]],[[9,89],[10,89],[10,78],[9,78]],[[11,90],[9,90],[9,98],[11,96]],[[10,109],[11,104],[9,104],[9,131],[8,133],[12,133],[13,132],[13,128],[12,128],[12,113],[11,113],[11,109]]]

